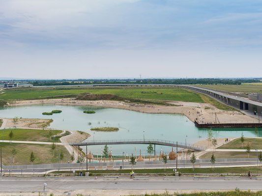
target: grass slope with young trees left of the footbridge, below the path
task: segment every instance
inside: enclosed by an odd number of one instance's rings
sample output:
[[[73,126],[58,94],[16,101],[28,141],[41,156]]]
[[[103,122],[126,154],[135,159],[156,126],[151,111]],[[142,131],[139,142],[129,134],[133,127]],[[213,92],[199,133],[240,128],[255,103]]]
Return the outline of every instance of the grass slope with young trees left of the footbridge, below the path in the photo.
[[[30,153],[33,151],[36,156],[33,164],[49,164],[58,163],[59,153],[63,152],[64,159],[62,163],[67,163],[70,160],[70,155],[65,147],[57,145],[55,151],[51,149],[51,145],[40,144],[15,144],[15,143],[0,143],[2,147],[2,162],[4,165],[10,165],[11,151],[15,148],[17,155],[15,156],[15,162],[12,165],[29,165]]]

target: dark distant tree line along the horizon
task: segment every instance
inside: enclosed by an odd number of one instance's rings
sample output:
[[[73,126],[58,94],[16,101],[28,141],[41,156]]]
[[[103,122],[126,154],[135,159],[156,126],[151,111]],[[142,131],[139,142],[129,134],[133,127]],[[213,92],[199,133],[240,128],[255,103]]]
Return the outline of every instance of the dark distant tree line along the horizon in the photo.
[[[19,80],[21,81],[21,80]],[[81,84],[234,84],[261,82],[262,78],[150,78],[150,79],[60,79],[23,80],[33,86],[60,86]]]

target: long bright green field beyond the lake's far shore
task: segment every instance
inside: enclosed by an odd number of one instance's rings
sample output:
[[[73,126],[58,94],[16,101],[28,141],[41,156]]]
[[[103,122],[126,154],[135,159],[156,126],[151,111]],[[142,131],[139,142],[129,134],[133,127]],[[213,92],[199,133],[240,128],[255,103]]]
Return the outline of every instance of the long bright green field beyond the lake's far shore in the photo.
[[[190,101],[203,103],[203,99],[199,94],[175,88],[103,88],[103,89],[47,89],[47,90],[5,90],[4,94],[0,95],[3,100],[19,100],[19,99],[36,99],[49,98],[65,95],[79,95],[83,93],[91,94],[114,94],[124,98],[144,98],[144,99],[159,99],[173,101]]]

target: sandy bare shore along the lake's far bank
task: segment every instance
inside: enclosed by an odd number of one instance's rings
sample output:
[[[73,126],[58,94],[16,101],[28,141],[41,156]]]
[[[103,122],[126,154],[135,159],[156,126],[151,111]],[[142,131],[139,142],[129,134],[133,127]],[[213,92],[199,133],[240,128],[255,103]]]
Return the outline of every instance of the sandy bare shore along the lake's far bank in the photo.
[[[120,108],[127,110],[134,110],[145,113],[172,113],[183,114],[188,117],[192,122],[197,118],[200,123],[214,123],[219,121],[220,123],[256,123],[257,119],[248,115],[244,115],[238,111],[225,111],[217,109],[216,107],[208,103],[194,103],[183,101],[169,102],[174,106],[163,106],[153,104],[137,104],[127,103],[123,101],[112,100],[75,100],[72,98],[63,99],[42,99],[42,100],[21,100],[15,101],[10,106],[16,105],[32,105],[32,104],[58,104],[58,105],[92,105],[111,108]],[[215,118],[217,116],[217,120]]]

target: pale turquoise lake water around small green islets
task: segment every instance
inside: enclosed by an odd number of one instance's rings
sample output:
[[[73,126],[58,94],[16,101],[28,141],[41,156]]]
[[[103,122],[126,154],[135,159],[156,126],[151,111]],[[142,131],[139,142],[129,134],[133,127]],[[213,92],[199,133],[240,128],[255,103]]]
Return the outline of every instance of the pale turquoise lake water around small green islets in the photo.
[[[62,113],[52,116],[42,115],[42,112],[62,110]],[[84,110],[94,110],[95,114],[84,114]],[[60,105],[30,105],[18,107],[0,108],[0,118],[42,118],[53,119],[50,128],[65,130],[81,130],[91,134],[87,140],[119,140],[119,139],[163,139],[178,141],[188,144],[206,139],[208,129],[195,127],[194,123],[187,117],[178,114],[146,114],[130,110],[82,107],[82,106],[60,106]],[[92,127],[114,126],[119,127],[117,132],[90,131]],[[245,137],[262,135],[260,129],[255,133],[254,128],[223,128],[214,129],[215,137],[239,137],[243,132]],[[161,148],[169,152],[170,147],[156,147],[159,153]],[[146,145],[119,145],[112,146],[113,154],[120,155],[122,152],[137,153],[146,151]],[[101,154],[101,146],[88,147],[94,154]]]

